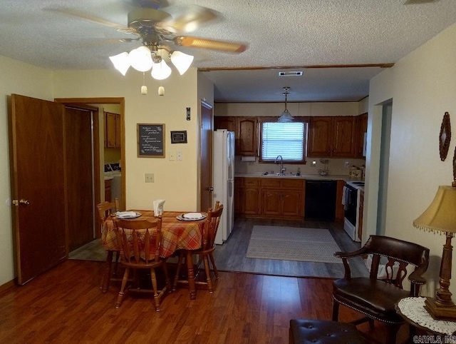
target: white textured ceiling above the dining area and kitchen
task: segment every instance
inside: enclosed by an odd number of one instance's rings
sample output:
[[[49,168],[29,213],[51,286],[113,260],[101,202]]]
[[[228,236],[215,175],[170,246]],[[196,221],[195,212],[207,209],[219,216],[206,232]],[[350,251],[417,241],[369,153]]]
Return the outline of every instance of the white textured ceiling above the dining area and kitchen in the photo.
[[[139,1],[2,0],[0,55],[52,70],[113,69],[108,56],[140,44],[113,43],[131,36],[61,10],[127,26],[128,11]],[[382,69],[304,67],[395,63],[456,22],[455,0],[413,5],[405,0],[167,2],[170,14],[191,4],[219,12],[220,19],[192,36],[249,45],[239,55],[180,49],[195,55],[194,66],[200,69],[246,69],[204,72],[214,81],[216,101],[283,101],[283,86],[291,87],[291,102],[358,101],[368,95],[368,80]],[[279,78],[278,71],[286,67],[304,75]]]

